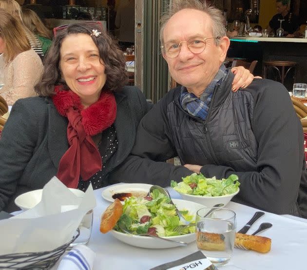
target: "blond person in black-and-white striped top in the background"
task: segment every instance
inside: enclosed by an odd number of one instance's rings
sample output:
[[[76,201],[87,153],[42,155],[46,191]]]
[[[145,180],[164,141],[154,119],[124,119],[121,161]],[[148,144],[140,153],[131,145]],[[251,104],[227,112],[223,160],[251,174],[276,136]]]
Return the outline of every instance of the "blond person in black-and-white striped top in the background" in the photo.
[[[0,0],[0,8],[5,9],[10,13],[15,19],[19,20],[20,24],[24,28],[24,31],[29,39],[30,45],[33,50],[38,54],[38,56],[43,59],[44,53],[42,51],[41,43],[39,39],[32,33],[25,25],[22,19],[22,12],[18,2],[15,0]]]

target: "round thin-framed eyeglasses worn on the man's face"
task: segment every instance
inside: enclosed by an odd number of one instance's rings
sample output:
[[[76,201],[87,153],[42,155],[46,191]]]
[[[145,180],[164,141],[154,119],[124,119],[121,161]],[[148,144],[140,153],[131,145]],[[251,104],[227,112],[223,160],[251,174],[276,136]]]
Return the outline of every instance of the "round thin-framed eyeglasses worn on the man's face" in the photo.
[[[187,42],[188,48],[193,54],[200,54],[205,50],[206,40],[208,39],[220,39],[220,37],[216,38],[195,37],[189,39],[188,41],[181,41],[179,43],[170,41],[165,43],[164,46],[161,46],[161,49],[168,58],[176,58],[180,53],[181,43]]]

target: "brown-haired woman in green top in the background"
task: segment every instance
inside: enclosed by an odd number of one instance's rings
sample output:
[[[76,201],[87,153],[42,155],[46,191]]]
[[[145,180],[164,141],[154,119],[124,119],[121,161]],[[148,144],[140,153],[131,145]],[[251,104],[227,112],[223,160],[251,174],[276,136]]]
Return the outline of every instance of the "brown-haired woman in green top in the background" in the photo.
[[[46,28],[35,11],[31,9],[23,8],[22,18],[25,26],[37,36],[41,43],[42,51],[46,54],[52,43],[51,31]]]

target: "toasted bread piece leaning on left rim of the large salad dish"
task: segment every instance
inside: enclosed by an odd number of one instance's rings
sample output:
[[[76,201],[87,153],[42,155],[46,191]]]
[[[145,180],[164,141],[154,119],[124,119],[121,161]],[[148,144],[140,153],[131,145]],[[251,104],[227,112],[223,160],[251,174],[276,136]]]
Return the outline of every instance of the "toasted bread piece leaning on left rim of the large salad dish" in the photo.
[[[100,231],[102,233],[111,231],[122,213],[123,206],[119,199],[115,199],[115,201],[108,206],[101,216]]]

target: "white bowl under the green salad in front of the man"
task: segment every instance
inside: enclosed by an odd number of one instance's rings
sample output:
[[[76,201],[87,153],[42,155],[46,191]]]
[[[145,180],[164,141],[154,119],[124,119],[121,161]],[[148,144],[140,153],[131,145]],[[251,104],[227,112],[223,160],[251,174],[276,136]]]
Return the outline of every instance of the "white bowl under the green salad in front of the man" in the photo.
[[[229,195],[223,195],[223,196],[214,196],[214,197],[213,196],[207,197],[207,196],[200,196],[200,195],[190,195],[190,194],[184,194],[184,193],[179,193],[179,194],[184,200],[200,203],[207,207],[212,207],[213,205],[218,204],[218,203],[223,203],[224,206],[226,206],[230,202],[232,197],[238,194],[239,191],[240,189],[238,188],[238,190],[235,193],[232,193]]]

